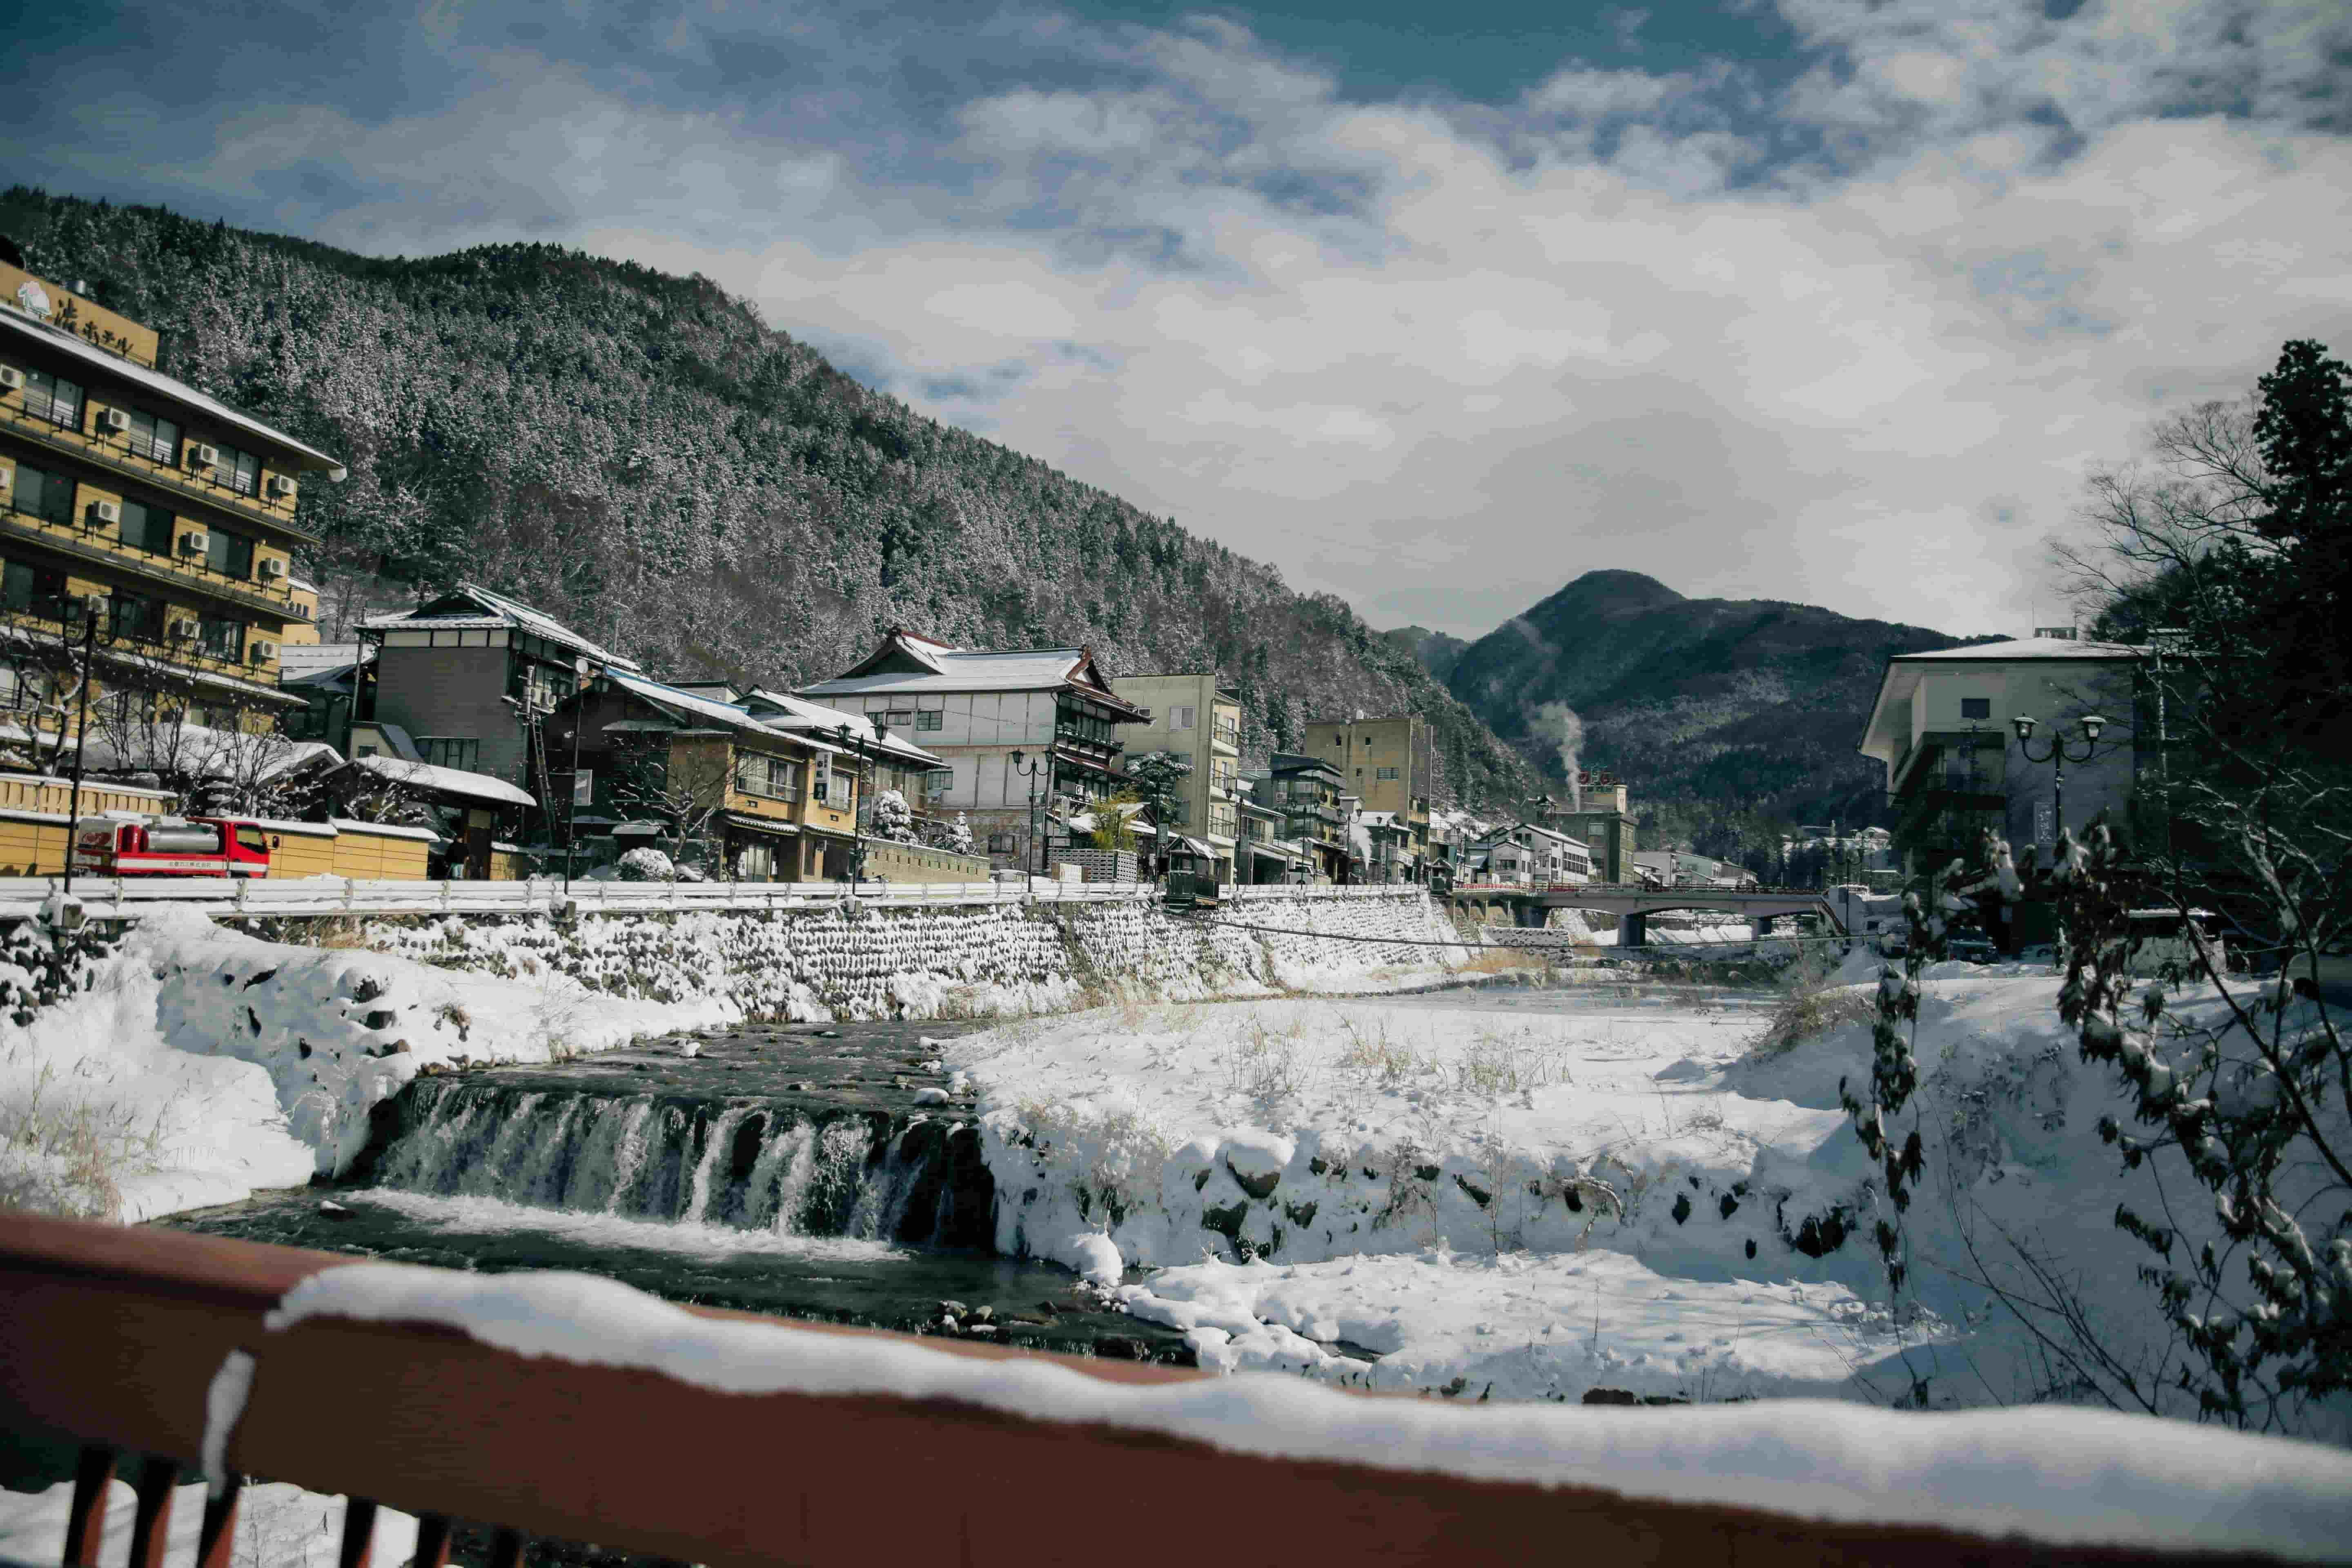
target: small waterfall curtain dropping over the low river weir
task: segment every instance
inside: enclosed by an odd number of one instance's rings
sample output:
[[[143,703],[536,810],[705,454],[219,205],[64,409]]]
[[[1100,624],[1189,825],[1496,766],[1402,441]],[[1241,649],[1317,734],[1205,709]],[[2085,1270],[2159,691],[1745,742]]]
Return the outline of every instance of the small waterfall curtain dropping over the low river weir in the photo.
[[[767,1100],[409,1084],[362,1161],[376,1187],[630,1220],[988,1248],[971,1128]]]

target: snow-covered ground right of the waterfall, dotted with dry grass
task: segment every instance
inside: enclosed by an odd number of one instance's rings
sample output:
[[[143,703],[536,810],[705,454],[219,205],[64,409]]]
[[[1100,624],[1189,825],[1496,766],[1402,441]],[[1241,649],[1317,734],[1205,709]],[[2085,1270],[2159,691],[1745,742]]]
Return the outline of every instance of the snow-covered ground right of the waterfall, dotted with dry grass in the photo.
[[[2063,1260],[2107,1347],[2157,1354],[2114,1211],[2159,1208],[2098,1138],[2129,1107],[2079,1060],[2058,980],[1940,964],[1924,990],[1905,1119],[1933,1180],[1900,1335],[1837,1095],[1867,1081],[1867,1023],[1762,1058],[1764,1016],[1733,997],[1564,990],[1101,1011],[948,1056],[981,1093],[997,1246],[1115,1246],[1145,1269],[1127,1309],[1211,1366],[1494,1399],[2032,1403],[2067,1389],[1973,1279],[2032,1284],[2020,1248]],[[2343,1408],[2310,1415],[2352,1434]]]

